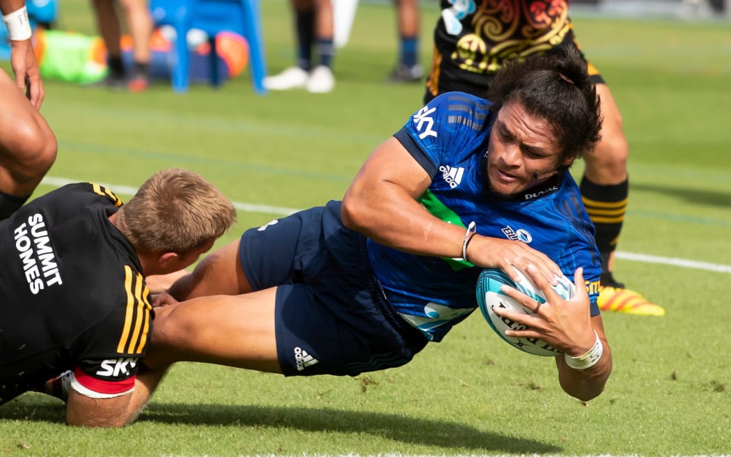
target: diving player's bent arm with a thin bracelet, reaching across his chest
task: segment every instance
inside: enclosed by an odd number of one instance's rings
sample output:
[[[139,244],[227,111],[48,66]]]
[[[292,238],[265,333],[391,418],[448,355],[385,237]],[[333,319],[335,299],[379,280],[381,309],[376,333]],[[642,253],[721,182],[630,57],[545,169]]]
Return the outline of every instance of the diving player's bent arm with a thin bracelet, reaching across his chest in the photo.
[[[431,177],[422,165],[391,137],[368,157],[350,184],[341,210],[343,223],[394,249],[462,257],[466,230],[436,218],[417,200],[429,184]],[[474,265],[512,271],[511,264],[525,268],[532,263],[541,271],[560,271],[545,254],[520,241],[475,235],[468,247]]]

